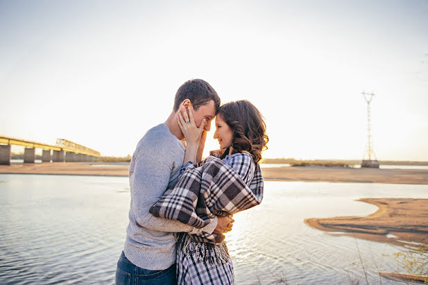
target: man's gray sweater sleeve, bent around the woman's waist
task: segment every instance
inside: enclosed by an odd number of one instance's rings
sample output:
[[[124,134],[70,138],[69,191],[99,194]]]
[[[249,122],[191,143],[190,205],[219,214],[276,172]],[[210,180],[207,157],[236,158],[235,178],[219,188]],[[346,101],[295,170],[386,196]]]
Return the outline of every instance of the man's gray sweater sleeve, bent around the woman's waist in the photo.
[[[135,151],[134,164],[130,169],[131,207],[135,222],[140,227],[160,232],[212,233],[217,225],[217,218],[202,229],[197,229],[179,221],[157,218],[148,212],[169,184],[173,161],[167,155],[167,149],[159,142],[153,146],[137,148]]]

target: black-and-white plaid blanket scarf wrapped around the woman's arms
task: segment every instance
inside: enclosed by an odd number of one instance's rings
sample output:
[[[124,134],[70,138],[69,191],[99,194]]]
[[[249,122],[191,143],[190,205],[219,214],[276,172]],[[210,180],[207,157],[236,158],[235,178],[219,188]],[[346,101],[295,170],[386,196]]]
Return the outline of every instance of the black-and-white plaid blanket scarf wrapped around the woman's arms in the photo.
[[[223,160],[209,156],[199,167],[197,164],[188,166],[178,182],[166,190],[150,212],[153,216],[202,228],[214,219],[214,215],[228,216],[250,209],[259,205],[262,198],[263,177],[259,164],[247,186]],[[225,239],[223,234],[205,232],[189,236],[194,241],[214,245],[220,245]]]

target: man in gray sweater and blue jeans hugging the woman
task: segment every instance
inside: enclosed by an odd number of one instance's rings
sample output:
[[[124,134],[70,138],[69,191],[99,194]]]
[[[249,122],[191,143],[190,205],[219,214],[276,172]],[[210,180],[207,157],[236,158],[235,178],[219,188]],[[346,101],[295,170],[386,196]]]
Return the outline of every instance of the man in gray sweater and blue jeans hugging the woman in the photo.
[[[191,108],[198,128],[204,128],[198,157],[206,132],[220,105],[214,88],[201,79],[185,82],[178,89],[173,111],[164,123],[148,130],[139,141],[129,166],[131,202],[124,250],[117,262],[116,284],[175,284],[176,238],[174,232],[221,234],[232,227],[232,219],[215,218],[197,229],[178,221],[152,216],[148,210],[169,185],[176,182],[183,158],[184,135],[177,122],[180,107]],[[201,126],[202,124],[202,126]]]

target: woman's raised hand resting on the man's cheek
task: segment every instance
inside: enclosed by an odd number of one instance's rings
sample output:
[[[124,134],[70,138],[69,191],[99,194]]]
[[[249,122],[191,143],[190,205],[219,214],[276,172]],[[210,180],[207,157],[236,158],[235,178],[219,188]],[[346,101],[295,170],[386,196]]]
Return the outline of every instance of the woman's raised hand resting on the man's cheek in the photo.
[[[189,111],[189,115],[187,115],[187,110]],[[185,106],[181,106],[177,121],[180,130],[185,136],[187,147],[196,148],[196,150],[198,150],[200,137],[203,134],[207,120],[204,118],[200,123],[199,128],[196,127],[191,108],[186,109]],[[205,141],[203,141],[203,143],[205,144]]]

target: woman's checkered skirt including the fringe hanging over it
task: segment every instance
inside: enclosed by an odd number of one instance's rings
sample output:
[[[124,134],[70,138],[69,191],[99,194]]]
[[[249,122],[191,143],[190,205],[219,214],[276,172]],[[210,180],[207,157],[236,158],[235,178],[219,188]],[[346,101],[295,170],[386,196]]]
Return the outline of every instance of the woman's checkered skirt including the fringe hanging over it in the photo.
[[[177,248],[178,284],[234,284],[233,264],[226,243],[199,243],[182,234]]]

